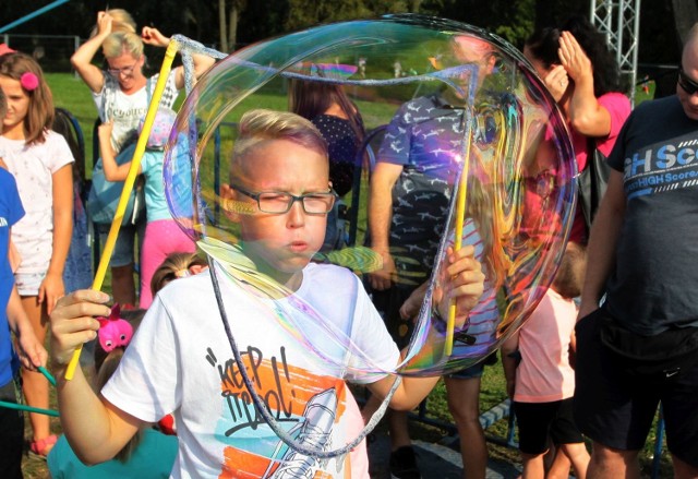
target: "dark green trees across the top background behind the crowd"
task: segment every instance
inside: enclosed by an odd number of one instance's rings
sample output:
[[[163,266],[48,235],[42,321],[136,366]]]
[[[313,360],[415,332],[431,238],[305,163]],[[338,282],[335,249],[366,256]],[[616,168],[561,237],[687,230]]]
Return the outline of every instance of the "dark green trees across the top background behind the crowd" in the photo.
[[[0,26],[49,2],[2,1]],[[104,1],[69,1],[8,33],[77,35],[85,38],[93,27],[97,11],[106,5]],[[588,15],[590,11],[590,0],[112,0],[109,5],[130,11],[139,25],[153,24],[168,35],[179,33],[207,46],[230,51],[320,23],[401,12],[432,14],[470,23],[520,47],[534,27],[561,24],[571,13]],[[640,9],[640,63],[676,63],[681,39],[696,21],[698,0],[643,0]],[[49,57],[47,46],[45,60]],[[151,64],[157,65],[158,59],[153,58]]]

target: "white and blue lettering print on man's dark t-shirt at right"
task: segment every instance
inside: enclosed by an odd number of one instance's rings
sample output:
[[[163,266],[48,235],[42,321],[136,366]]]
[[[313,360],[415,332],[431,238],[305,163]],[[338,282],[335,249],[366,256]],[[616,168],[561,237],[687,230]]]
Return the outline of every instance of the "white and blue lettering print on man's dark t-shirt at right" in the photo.
[[[625,191],[628,201],[647,194],[698,184],[698,140],[695,133],[655,143],[625,158]]]

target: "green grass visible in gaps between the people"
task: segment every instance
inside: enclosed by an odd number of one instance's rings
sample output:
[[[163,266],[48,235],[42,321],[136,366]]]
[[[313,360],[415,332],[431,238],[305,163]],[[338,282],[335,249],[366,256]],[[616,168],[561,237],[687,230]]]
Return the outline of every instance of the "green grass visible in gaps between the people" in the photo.
[[[71,111],[79,120],[84,135],[86,145],[86,165],[87,170],[92,166],[92,129],[96,118],[96,109],[92,99],[92,96],[87,87],[82,83],[80,79],[71,74],[47,74],[47,81],[53,92],[53,98],[57,107],[62,107]],[[638,93],[638,100],[646,99],[648,95],[643,92]],[[639,103],[639,101],[638,101]],[[281,92],[270,92],[264,95],[255,95],[254,98],[245,100],[242,106],[236,111],[243,111],[248,106],[266,106],[269,108],[286,109],[286,97]],[[380,103],[370,100],[359,100],[359,108],[362,111],[365,123],[369,128],[375,127],[381,123],[385,123],[389,120],[392,111],[387,111]],[[230,120],[234,121],[238,117],[234,116]],[[224,142],[230,142],[230,137],[224,136]],[[227,144],[227,143],[226,143]],[[362,197],[362,204],[365,202],[365,196]],[[108,285],[108,278],[105,283]],[[504,374],[502,372],[501,363],[485,368],[485,373],[482,380],[482,393],[481,393],[481,410],[486,411],[493,406],[500,404],[505,399],[505,382]],[[56,407],[55,397],[51,397],[52,407]],[[446,406],[445,390],[443,383],[436,386],[434,392],[428,402],[428,415],[430,418],[435,418],[443,421],[450,421],[450,415]],[[434,427],[426,427],[418,422],[411,424],[412,435],[414,439],[422,439],[425,441],[438,441],[446,435],[445,430],[441,430]],[[55,422],[55,430],[59,431],[60,426],[58,421]],[[488,435],[496,435],[504,438],[507,433],[506,420],[500,421],[491,427],[488,431]],[[28,432],[27,432],[28,434]],[[641,455],[641,465],[643,472],[649,476],[651,467],[652,446],[654,441],[654,432],[650,434],[648,445]],[[518,452],[512,448],[503,447],[496,444],[490,444],[491,457],[519,464]],[[43,478],[46,477],[47,470],[45,463],[27,458],[24,463],[25,477],[27,478]],[[662,478],[669,478],[671,476],[671,465],[669,456],[664,450],[662,455]]]

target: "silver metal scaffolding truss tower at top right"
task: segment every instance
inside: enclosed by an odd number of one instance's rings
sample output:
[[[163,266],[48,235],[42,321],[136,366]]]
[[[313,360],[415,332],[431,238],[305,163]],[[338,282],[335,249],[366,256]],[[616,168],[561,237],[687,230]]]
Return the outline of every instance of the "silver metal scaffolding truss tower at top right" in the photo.
[[[606,36],[611,51],[615,52],[621,75],[625,76],[630,85],[630,103],[635,104],[640,0],[591,0],[590,19]]]

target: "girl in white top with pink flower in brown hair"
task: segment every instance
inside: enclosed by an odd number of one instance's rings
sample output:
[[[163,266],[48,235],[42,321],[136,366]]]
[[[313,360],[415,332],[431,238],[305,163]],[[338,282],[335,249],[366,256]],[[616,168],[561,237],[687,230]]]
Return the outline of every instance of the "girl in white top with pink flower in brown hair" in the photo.
[[[48,314],[64,294],[63,266],[73,227],[73,156],[63,136],[50,130],[53,99],[41,68],[23,53],[0,57],[0,88],[8,98],[0,151],[14,175],[26,216],[12,228],[21,258],[17,290],[43,344]],[[48,408],[48,382],[23,371],[24,394],[31,406]],[[48,416],[29,416],[31,450],[46,456],[56,436]]]

